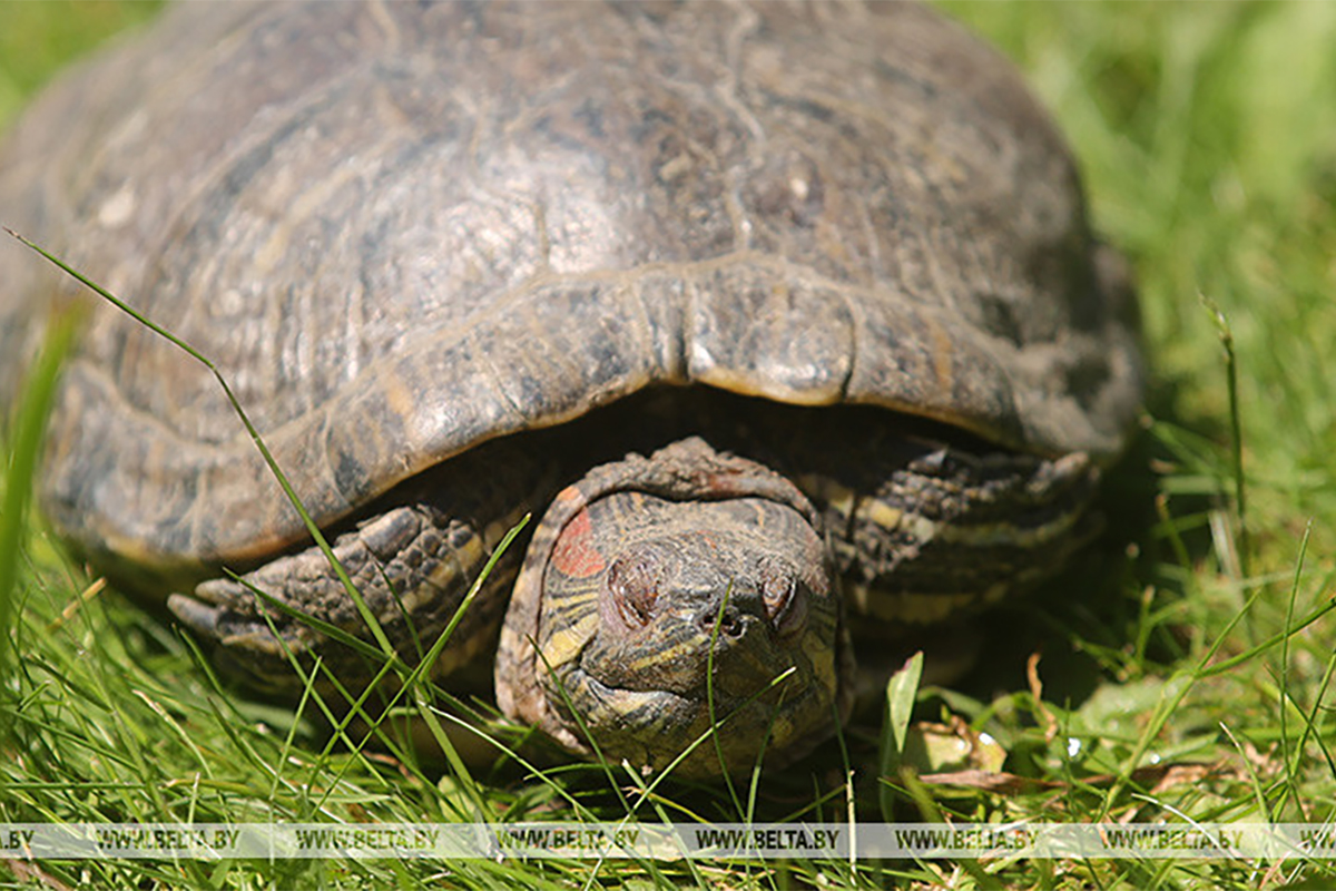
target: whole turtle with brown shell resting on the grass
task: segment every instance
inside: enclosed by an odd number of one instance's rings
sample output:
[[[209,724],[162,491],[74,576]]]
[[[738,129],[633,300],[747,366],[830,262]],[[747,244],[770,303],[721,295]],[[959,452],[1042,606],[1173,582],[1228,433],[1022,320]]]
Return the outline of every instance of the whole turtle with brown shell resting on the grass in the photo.
[[[383,640],[449,629],[433,680],[576,756],[811,751],[859,652],[1079,552],[1141,399],[1070,150],[919,5],[182,4],[0,152],[3,222],[216,365]],[[27,355],[83,298],[0,250]],[[110,306],[40,497],[262,695],[377,673],[211,373]]]

